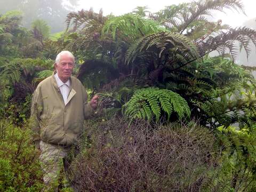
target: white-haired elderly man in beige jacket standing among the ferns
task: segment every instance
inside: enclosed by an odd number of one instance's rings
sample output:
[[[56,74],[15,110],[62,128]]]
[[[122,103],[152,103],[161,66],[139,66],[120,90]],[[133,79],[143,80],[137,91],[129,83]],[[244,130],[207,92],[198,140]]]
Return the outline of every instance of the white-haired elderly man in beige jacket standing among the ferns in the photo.
[[[77,142],[84,119],[97,107],[98,97],[87,103],[82,83],[71,76],[75,58],[62,51],[55,60],[57,73],[38,84],[32,99],[34,142],[41,151],[40,159],[46,186],[52,186],[63,159],[68,169],[67,154]]]

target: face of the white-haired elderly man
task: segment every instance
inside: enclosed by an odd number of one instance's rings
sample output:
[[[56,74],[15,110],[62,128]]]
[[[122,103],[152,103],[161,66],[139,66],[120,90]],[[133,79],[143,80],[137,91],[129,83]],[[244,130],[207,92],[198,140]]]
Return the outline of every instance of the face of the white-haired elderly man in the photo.
[[[54,64],[58,76],[63,83],[66,83],[72,74],[74,61],[69,55],[61,55],[60,62]]]

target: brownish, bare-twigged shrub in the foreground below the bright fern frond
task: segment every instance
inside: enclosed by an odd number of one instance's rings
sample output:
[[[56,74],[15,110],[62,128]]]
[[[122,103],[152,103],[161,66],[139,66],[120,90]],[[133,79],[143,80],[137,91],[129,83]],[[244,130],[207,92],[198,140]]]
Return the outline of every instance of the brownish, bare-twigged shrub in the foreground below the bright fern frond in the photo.
[[[217,161],[214,135],[197,125],[87,126],[72,167],[77,191],[199,191]]]

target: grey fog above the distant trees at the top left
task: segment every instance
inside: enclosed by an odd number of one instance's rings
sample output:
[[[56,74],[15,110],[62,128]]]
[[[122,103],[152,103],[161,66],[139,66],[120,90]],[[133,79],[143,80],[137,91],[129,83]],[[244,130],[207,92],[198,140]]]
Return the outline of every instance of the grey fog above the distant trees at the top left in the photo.
[[[17,10],[22,12],[23,26],[30,28],[36,19],[45,20],[51,26],[51,32],[65,29],[66,15],[75,11],[78,0],[0,0],[0,14]]]

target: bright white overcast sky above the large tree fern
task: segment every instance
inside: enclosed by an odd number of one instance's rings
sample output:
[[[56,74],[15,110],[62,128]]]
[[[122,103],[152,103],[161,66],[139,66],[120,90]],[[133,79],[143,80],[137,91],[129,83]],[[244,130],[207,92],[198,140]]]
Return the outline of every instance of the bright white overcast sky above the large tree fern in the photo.
[[[190,1],[182,1],[182,0],[175,0],[175,1],[168,1],[168,0],[159,0],[159,1],[149,1],[149,0],[129,0],[129,1],[117,1],[117,0],[97,0],[97,1],[85,1],[80,0],[79,10],[89,10],[90,7],[93,7],[95,12],[99,12],[99,10],[103,9],[103,14],[107,15],[113,13],[114,15],[121,15],[124,13],[131,12],[137,6],[148,6],[150,12],[157,12],[161,9],[164,9],[165,6],[171,4],[179,4],[183,2],[190,2]],[[255,9],[256,9],[256,1],[253,0],[242,0],[245,8],[245,12],[247,14],[244,15],[243,13],[237,13],[237,11],[227,10],[227,14],[219,13],[214,20],[221,19],[222,23],[226,23],[232,27],[241,26],[242,23],[246,20],[256,18]],[[255,21],[256,22],[256,21]]]

